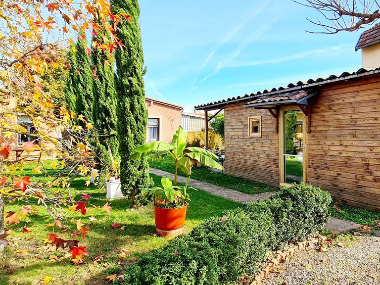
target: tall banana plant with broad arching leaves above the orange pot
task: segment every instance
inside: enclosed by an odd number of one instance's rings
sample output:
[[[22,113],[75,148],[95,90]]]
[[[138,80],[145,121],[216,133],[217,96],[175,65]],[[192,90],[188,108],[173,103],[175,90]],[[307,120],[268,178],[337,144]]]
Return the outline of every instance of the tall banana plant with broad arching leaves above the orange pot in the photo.
[[[216,169],[223,169],[223,166],[217,162],[218,157],[201,147],[186,147],[188,142],[188,133],[180,126],[173,136],[173,142],[147,142],[135,148],[135,153],[131,155],[131,160],[140,159],[146,155],[152,155],[153,160],[170,156],[174,163],[174,185],[178,184],[178,170],[186,175],[191,174],[191,159],[202,163],[203,165]]]

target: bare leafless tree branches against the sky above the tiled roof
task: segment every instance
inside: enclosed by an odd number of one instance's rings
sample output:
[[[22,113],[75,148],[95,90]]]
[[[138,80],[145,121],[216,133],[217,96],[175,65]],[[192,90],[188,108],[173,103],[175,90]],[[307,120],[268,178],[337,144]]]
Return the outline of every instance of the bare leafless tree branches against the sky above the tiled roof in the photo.
[[[311,33],[353,32],[380,18],[380,3],[377,0],[303,0],[295,2],[314,8],[322,15],[322,20],[307,19],[324,29],[324,31]]]

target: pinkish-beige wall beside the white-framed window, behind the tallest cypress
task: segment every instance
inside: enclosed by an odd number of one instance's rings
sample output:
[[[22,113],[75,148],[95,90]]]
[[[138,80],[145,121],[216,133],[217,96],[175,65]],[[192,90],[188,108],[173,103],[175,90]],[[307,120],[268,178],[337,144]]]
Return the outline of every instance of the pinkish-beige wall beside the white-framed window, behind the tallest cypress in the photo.
[[[148,118],[157,118],[159,122],[158,139],[171,142],[173,135],[181,125],[182,107],[171,106],[151,99],[145,99]]]

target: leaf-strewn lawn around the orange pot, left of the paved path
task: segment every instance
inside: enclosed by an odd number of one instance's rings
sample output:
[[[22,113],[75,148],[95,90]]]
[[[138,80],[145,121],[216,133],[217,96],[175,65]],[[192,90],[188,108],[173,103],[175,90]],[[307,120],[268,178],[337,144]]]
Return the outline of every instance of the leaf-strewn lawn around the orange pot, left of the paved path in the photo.
[[[23,172],[30,175],[33,168],[34,166],[31,165]],[[160,177],[151,176],[155,183],[159,183]],[[32,180],[40,178],[46,179],[40,174],[35,175]],[[95,186],[85,187],[87,179],[77,178],[72,187],[79,190],[80,194],[91,194],[90,203],[105,204],[105,191]],[[211,216],[220,216],[225,210],[241,206],[237,202],[214,196],[203,190],[191,191],[191,194],[186,220],[187,232]],[[111,202],[111,207],[111,215],[107,215],[101,208],[91,206],[88,207],[90,212],[86,216],[82,216],[79,212],[75,216],[68,214],[69,220],[81,218],[82,223],[88,225],[90,229],[88,236],[80,242],[81,246],[88,247],[89,256],[83,264],[73,265],[67,249],[55,250],[55,247],[44,243],[47,234],[52,231],[52,227],[47,226],[52,220],[44,207],[36,206],[37,211],[32,217],[28,217],[26,221],[23,220],[19,225],[8,227],[12,230],[7,238],[11,242],[6,247],[6,266],[0,269],[0,285],[34,285],[39,284],[46,276],[54,278],[49,285],[106,284],[104,279],[106,276],[122,272],[123,268],[134,262],[139,255],[161,247],[170,240],[170,238],[161,238],[153,234],[152,205],[135,210],[130,208],[128,200],[115,200]],[[8,205],[6,211],[15,211],[20,208],[21,205]],[[94,226],[90,226],[89,217],[91,216],[96,218]],[[122,228],[113,230],[111,224],[114,222],[120,224]],[[31,229],[31,233],[23,234],[24,225]],[[74,229],[75,225],[72,226]],[[55,233],[60,238],[73,239],[68,232],[59,233],[55,230]],[[80,237],[74,239],[80,239]],[[27,252],[17,253],[16,250]],[[48,259],[51,254],[64,257],[64,259],[60,262],[50,261]],[[99,264],[93,262],[97,256],[103,257]]]

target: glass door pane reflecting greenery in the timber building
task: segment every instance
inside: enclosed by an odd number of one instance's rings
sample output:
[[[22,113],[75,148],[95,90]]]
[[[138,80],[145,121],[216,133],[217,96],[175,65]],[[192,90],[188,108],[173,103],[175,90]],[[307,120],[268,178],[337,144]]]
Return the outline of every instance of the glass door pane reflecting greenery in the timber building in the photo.
[[[283,111],[282,183],[304,181],[304,114],[301,110]]]

